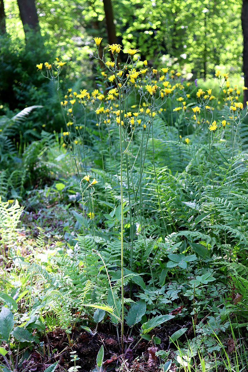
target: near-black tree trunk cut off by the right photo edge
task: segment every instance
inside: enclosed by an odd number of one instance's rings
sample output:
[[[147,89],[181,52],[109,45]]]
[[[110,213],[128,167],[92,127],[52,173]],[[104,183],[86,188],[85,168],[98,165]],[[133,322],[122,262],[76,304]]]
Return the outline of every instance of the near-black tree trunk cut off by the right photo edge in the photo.
[[[241,25],[243,31],[243,72],[245,78],[245,87],[248,87],[248,0],[243,0],[241,12]],[[248,90],[244,90],[244,105],[248,101]]]

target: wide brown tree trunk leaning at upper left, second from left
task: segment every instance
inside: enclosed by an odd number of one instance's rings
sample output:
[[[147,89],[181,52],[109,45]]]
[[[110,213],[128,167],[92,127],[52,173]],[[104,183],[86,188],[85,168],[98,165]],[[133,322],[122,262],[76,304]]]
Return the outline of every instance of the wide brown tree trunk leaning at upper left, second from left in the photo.
[[[35,0],[17,0],[25,35],[29,29],[39,31]]]

